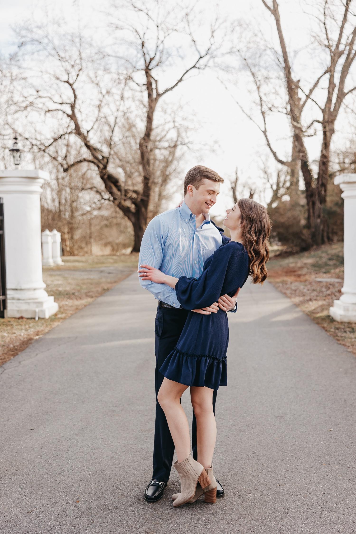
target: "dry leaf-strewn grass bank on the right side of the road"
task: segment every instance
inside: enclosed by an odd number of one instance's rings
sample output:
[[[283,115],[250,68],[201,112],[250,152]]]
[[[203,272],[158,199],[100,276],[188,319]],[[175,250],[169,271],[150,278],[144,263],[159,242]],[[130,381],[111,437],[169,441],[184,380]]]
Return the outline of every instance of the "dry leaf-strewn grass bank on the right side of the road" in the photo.
[[[335,278],[341,281],[317,281]],[[356,324],[338,323],[329,315],[341,296],[344,279],[343,243],[323,245],[301,254],[272,256],[268,281],[298,308],[356,355]]]

